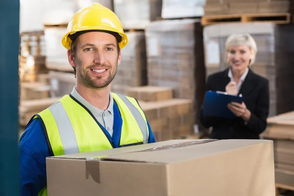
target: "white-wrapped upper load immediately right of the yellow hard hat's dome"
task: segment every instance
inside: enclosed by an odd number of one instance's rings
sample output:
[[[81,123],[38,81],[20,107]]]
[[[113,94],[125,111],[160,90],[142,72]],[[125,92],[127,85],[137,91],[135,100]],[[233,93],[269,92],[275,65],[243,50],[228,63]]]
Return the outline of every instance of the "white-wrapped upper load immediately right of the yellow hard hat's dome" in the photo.
[[[124,29],[144,29],[161,16],[162,0],[114,0],[113,3]]]

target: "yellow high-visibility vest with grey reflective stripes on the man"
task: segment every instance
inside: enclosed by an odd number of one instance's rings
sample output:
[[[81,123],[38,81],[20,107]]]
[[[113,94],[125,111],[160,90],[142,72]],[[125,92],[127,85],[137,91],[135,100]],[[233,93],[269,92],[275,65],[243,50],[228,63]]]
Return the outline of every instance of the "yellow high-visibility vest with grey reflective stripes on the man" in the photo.
[[[115,93],[112,96],[123,119],[119,146],[147,144],[147,120],[136,99]],[[34,118],[43,123],[49,150],[54,156],[113,148],[93,114],[71,95],[59,99]],[[39,196],[47,196],[47,187]]]

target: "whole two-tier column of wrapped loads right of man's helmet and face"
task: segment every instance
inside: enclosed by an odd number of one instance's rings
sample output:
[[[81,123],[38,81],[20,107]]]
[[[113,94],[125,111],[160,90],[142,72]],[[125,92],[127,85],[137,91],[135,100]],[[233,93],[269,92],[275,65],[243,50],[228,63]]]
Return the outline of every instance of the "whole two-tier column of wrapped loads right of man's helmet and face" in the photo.
[[[145,27],[161,15],[162,0],[114,0],[128,44],[122,49],[122,61],[111,91],[126,95],[127,89],[147,85]]]

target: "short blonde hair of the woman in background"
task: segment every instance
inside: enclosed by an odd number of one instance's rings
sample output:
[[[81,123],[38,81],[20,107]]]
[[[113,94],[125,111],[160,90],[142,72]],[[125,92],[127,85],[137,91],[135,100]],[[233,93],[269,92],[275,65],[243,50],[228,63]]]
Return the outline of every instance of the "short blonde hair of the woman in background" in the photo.
[[[255,62],[255,57],[257,53],[257,46],[256,42],[253,39],[253,37],[248,34],[232,34],[230,35],[226,42],[225,42],[225,50],[229,52],[229,50],[234,46],[240,46],[240,45],[247,45],[249,49],[253,52],[253,56],[250,60],[249,66],[251,66]]]

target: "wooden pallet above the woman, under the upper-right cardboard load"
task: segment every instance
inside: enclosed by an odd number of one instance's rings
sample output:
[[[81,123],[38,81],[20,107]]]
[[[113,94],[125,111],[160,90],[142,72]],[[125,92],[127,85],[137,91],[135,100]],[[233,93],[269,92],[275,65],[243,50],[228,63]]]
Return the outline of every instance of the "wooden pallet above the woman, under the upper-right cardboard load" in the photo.
[[[203,16],[201,24],[214,25],[224,23],[249,23],[249,22],[270,22],[274,24],[289,24],[291,22],[290,13],[259,13],[259,14],[228,14]]]

